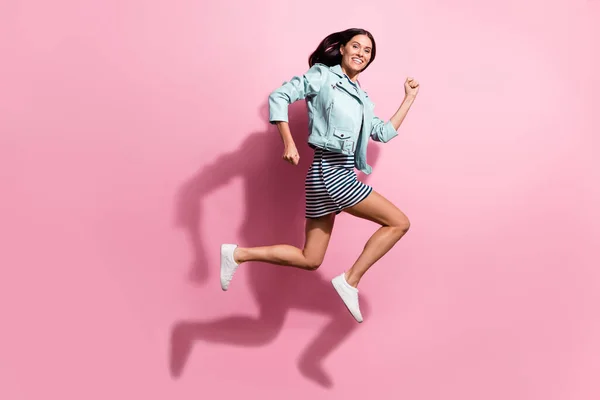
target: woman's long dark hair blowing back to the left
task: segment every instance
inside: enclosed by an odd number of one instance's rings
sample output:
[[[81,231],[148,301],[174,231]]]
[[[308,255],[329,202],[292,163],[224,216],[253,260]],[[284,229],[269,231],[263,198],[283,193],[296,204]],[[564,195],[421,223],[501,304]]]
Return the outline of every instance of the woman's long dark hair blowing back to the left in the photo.
[[[356,35],[367,35],[367,37],[371,39],[371,43],[373,43],[371,60],[369,60],[368,64],[361,70],[361,72],[364,71],[375,60],[376,46],[375,39],[373,38],[373,35],[371,35],[371,32],[360,28],[350,28],[345,31],[334,32],[328,35],[308,57],[308,66],[312,67],[316,63],[321,63],[332,67],[341,63],[342,53],[340,53],[340,47],[345,46],[346,43]]]

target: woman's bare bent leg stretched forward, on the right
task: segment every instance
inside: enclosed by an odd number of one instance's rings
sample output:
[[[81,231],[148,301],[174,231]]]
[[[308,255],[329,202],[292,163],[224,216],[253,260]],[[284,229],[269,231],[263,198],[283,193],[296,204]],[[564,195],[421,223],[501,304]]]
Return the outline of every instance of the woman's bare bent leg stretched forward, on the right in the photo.
[[[344,211],[381,225],[367,241],[352,268],[346,271],[348,283],[357,287],[367,270],[406,234],[410,221],[394,204],[374,190],[366,199]]]

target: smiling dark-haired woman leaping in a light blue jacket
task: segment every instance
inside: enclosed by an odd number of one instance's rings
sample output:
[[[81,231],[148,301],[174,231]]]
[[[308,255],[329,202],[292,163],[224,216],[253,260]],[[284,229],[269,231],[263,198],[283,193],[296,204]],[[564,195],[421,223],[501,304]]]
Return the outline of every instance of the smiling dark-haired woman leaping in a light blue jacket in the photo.
[[[358,82],[359,74],[375,60],[375,50],[373,36],[364,29],[332,33],[310,55],[310,69],[304,75],[295,76],[270,94],[269,120],[281,134],[283,159],[293,165],[298,164],[299,155],[288,125],[288,106],[297,100],[307,104],[308,143],[314,158],[305,180],[305,244],[303,249],[287,244],[253,248],[221,245],[223,290],[247,261],[316,270],[325,256],[335,216],[345,211],[381,225],[354,265],[331,281],[352,316],[363,321],[358,283],[404,236],[410,224],[394,204],[358,181],[354,168],[371,173],[366,156],[369,139],[388,142],[397,136],[419,91],[418,82],[407,78],[404,100],[392,118],[384,122],[375,116],[374,104]]]

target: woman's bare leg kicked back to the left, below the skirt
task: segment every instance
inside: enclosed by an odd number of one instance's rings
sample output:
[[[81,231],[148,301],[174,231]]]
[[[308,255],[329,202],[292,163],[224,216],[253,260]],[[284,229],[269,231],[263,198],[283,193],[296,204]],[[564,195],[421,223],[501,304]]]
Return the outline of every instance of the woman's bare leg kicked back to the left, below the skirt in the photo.
[[[304,249],[287,244],[238,247],[235,249],[233,257],[238,264],[246,261],[262,261],[270,264],[316,270],[325,257],[334,221],[335,214],[314,219],[307,218]]]

